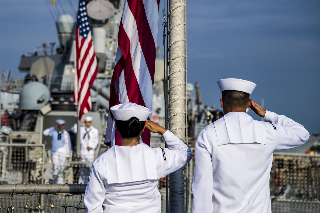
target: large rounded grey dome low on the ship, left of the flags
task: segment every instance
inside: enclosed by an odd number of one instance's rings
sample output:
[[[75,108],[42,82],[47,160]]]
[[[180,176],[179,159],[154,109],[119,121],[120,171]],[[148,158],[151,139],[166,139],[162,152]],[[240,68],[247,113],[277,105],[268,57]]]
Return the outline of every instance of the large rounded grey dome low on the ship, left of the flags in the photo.
[[[40,82],[30,82],[20,91],[19,109],[40,110],[50,99],[49,89]]]

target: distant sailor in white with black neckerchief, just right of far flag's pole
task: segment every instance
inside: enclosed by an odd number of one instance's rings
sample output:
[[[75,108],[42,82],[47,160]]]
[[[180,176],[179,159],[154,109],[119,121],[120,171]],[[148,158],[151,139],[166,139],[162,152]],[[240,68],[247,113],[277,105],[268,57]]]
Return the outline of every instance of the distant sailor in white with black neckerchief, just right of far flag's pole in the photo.
[[[84,126],[80,127],[81,162],[92,166],[94,160],[94,150],[99,144],[99,132],[92,124],[92,117],[84,119]],[[88,183],[90,171],[86,168],[79,170],[79,183]]]

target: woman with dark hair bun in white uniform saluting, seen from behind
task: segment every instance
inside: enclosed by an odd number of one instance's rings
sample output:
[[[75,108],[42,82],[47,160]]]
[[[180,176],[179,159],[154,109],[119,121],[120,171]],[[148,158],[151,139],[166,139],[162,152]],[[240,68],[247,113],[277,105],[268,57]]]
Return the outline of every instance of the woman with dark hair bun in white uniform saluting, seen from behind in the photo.
[[[178,170],[191,158],[190,148],[172,132],[148,121],[151,110],[125,103],[110,108],[121,145],[95,159],[84,194],[86,212],[160,213],[158,179]],[[140,142],[144,128],[160,133],[168,148]]]

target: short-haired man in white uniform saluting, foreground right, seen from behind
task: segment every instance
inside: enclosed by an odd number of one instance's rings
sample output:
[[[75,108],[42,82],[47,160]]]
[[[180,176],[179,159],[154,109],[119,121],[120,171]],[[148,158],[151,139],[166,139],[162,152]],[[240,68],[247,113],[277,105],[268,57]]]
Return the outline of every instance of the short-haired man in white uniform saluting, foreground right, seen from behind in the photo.
[[[218,85],[225,115],[197,138],[192,212],[271,213],[273,151],[303,145],[309,133],[301,124],[249,99],[255,83],[229,78]],[[263,121],[246,114],[249,107]]]

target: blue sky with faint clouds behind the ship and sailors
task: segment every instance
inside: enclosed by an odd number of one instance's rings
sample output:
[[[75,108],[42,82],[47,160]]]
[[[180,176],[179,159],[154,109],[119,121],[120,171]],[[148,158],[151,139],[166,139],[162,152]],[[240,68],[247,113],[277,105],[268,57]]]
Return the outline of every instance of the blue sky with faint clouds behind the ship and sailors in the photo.
[[[77,1],[56,0],[58,8],[59,1],[74,15],[69,5]],[[45,0],[2,1],[1,71],[24,77],[20,56],[58,43],[56,18]],[[217,80],[243,78],[257,84],[251,98],[264,99],[265,109],[320,133],[320,1],[187,1],[187,61],[188,82],[199,83],[205,105],[220,108]]]

